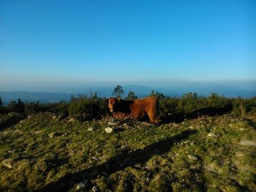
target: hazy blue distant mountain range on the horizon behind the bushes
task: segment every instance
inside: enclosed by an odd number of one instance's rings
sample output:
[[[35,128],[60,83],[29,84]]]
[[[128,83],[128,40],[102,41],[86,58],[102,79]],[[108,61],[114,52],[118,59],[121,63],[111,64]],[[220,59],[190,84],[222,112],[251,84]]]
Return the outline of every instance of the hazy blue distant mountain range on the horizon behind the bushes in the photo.
[[[165,96],[182,96],[184,93],[197,93],[198,95],[208,96],[211,93],[218,93],[227,97],[241,96],[249,98],[256,96],[256,89],[252,88],[238,88],[231,85],[187,85],[187,86],[172,86],[172,88],[153,88],[144,85],[127,85],[123,86],[124,95],[126,97],[129,91],[135,92],[139,98],[148,96],[151,91],[158,91]],[[3,104],[9,104],[12,100],[21,99],[22,101],[40,101],[40,103],[54,103],[59,101],[69,101],[70,97],[83,94],[90,96],[91,93],[97,93],[99,97],[113,96],[113,87],[105,88],[80,88],[80,90],[69,93],[54,93],[54,92],[29,92],[29,91],[0,91],[0,97]]]

